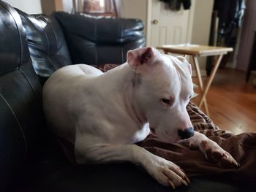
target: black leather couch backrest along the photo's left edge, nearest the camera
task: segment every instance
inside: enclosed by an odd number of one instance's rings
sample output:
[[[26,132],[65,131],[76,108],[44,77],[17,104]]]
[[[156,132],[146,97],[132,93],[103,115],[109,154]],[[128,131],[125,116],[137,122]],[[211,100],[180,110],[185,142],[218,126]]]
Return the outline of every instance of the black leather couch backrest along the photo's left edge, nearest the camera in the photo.
[[[20,168],[36,158],[45,122],[41,89],[20,16],[0,1],[0,191],[16,185]]]

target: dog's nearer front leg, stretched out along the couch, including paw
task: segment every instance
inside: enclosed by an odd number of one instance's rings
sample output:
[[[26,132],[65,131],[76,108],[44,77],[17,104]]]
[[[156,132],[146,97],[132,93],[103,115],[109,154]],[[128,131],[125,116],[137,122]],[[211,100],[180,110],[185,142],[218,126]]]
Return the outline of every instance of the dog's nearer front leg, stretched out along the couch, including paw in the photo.
[[[80,149],[82,148],[80,147]],[[91,147],[86,151],[76,151],[76,153],[77,156],[80,156],[77,161],[81,164],[129,161],[143,166],[148,174],[151,174],[162,185],[175,188],[175,186],[190,183],[179,166],[148,152],[138,145],[101,145]]]

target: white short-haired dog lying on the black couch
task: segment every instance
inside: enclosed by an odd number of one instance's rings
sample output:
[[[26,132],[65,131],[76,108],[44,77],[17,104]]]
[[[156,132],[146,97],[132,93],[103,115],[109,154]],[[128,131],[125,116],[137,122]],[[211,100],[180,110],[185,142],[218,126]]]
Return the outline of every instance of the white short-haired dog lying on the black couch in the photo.
[[[186,59],[152,47],[129,51],[125,64],[105,74],[88,65],[65,66],[45,83],[45,115],[53,131],[75,145],[79,164],[130,161],[162,185],[188,185],[179,166],[134,143],[151,128],[162,141],[184,139],[206,158],[238,166],[219,145],[194,133],[186,110],[193,95],[191,73]]]

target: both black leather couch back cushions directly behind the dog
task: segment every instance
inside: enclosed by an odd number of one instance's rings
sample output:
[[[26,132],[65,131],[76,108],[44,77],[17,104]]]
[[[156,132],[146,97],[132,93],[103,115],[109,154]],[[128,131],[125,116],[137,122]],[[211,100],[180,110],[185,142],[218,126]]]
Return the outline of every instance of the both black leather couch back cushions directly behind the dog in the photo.
[[[67,12],[29,15],[17,11],[42,84],[56,69],[70,64],[123,64],[128,50],[145,45],[140,20]]]

